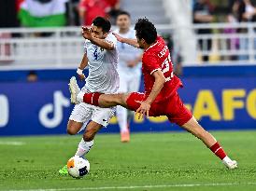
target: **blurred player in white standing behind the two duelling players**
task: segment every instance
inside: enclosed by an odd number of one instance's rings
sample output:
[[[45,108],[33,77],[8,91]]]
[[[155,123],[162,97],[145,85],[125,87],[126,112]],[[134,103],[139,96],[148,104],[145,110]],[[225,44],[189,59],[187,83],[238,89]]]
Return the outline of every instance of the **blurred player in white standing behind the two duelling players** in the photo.
[[[135,30],[131,28],[131,17],[126,11],[121,11],[117,17],[118,29],[115,34],[124,38],[135,39]],[[142,51],[133,46],[118,41],[120,75],[120,93],[138,91],[141,78],[141,57]],[[117,106],[117,117],[121,131],[121,142],[130,141],[129,121],[134,116],[134,112]]]

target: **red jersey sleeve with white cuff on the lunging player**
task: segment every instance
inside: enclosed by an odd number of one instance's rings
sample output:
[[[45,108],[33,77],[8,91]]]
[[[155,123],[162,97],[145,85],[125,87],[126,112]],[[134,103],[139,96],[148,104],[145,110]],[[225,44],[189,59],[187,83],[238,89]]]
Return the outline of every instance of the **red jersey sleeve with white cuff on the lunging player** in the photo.
[[[152,75],[157,70],[161,70],[161,66],[156,56],[144,55],[142,61],[146,69],[149,71],[150,75]]]

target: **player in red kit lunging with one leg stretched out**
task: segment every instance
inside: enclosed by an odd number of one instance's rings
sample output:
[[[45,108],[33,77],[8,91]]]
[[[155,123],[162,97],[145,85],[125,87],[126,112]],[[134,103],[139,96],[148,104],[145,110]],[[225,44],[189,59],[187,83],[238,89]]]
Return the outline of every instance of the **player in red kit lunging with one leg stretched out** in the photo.
[[[121,94],[102,94],[100,92],[83,93],[72,90],[78,102],[86,102],[100,107],[121,105],[136,111],[141,116],[167,116],[170,122],[178,124],[200,139],[229,169],[235,169],[237,162],[227,157],[220,143],[201,127],[192,113],[185,107],[178,96],[182,87],[179,78],[173,74],[173,64],[169,49],[164,39],[157,35],[156,28],[147,19],[139,19],[135,24],[136,40],[122,38],[115,34],[122,43],[136,48],[143,48],[142,73],[145,92]]]

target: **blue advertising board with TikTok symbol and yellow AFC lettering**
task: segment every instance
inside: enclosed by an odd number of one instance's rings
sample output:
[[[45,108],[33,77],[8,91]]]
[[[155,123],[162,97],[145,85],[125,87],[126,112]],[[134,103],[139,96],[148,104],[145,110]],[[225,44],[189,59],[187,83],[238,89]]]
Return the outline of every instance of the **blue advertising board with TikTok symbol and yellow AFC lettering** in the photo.
[[[68,80],[0,82],[0,135],[65,133],[73,109]],[[256,130],[256,76],[182,79],[180,97],[206,130]],[[181,130],[165,116],[140,119],[132,131]],[[102,132],[117,132],[116,117]]]

